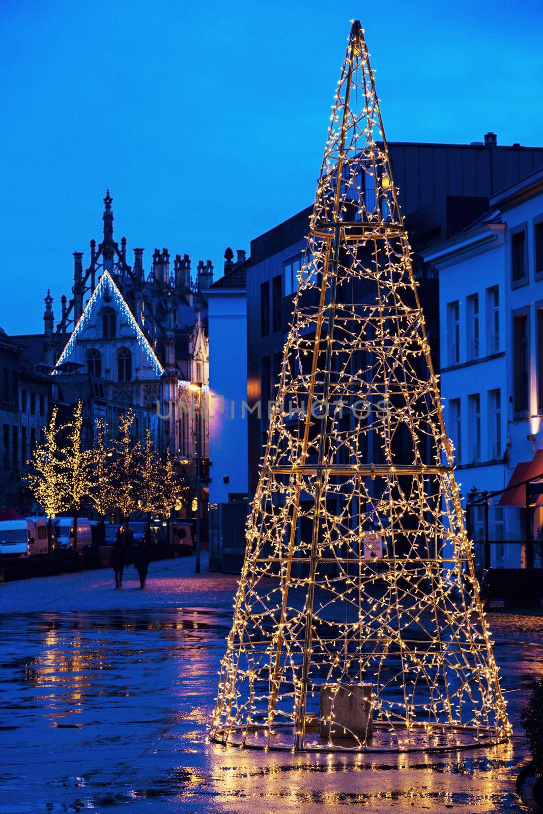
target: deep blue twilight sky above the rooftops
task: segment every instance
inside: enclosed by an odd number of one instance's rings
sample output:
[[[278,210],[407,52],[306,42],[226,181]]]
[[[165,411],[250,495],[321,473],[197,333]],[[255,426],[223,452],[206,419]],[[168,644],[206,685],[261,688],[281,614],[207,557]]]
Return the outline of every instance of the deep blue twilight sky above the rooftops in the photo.
[[[543,146],[541,0],[0,0],[0,325],[41,331],[72,252],[193,269],[313,200],[349,20],[389,140]]]

